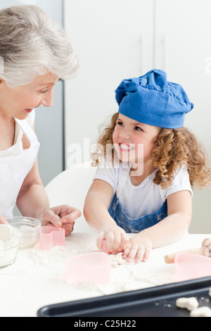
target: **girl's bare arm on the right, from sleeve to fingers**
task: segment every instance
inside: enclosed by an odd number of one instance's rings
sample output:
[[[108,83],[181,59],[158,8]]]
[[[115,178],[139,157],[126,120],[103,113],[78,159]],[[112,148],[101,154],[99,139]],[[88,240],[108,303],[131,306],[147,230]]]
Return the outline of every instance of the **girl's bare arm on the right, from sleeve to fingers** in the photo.
[[[130,239],[122,255],[127,261],[146,261],[151,249],[181,239],[188,230],[192,216],[192,199],[189,191],[180,191],[167,198],[168,216],[153,227],[139,232]]]

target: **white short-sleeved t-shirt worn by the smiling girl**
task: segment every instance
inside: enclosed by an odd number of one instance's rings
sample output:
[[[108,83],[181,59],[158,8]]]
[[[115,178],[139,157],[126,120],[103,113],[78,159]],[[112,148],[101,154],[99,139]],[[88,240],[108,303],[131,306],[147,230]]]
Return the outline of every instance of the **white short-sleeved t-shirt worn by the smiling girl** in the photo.
[[[108,182],[113,187],[114,195],[122,175],[122,165],[123,163],[120,163],[118,168],[101,168],[99,166],[94,180],[99,179]],[[138,186],[134,186],[130,176],[128,176],[119,200],[122,208],[130,218],[140,218],[143,215],[158,211],[167,197],[175,192],[188,190],[191,192],[191,196],[193,196],[186,165],[181,165],[178,173],[174,175],[172,185],[167,187],[167,189],[162,189],[161,185],[153,182],[156,171],[146,177]]]

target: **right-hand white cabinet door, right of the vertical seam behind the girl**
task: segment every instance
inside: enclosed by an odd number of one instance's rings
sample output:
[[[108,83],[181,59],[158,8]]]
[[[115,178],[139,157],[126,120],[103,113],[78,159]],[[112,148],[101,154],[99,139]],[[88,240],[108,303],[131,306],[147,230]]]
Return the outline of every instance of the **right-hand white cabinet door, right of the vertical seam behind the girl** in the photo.
[[[211,158],[211,1],[155,1],[155,66],[186,90],[195,107],[185,126]],[[210,233],[211,188],[193,192],[191,231]]]

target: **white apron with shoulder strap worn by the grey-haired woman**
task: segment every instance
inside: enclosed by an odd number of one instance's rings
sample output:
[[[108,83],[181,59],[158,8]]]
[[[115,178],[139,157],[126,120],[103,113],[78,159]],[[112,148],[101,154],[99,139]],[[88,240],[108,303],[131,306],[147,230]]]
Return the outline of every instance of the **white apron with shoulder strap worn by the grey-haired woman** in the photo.
[[[25,177],[32,169],[39,151],[39,142],[32,127],[26,120],[16,123],[23,130],[31,145],[18,156],[5,156],[0,158],[0,215],[5,218],[13,217],[13,208]]]

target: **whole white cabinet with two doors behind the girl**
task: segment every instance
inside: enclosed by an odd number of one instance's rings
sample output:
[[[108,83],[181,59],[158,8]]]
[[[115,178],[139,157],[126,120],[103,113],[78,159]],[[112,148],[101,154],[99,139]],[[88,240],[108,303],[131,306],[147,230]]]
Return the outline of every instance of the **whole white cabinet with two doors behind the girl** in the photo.
[[[186,90],[195,108],[185,125],[211,157],[210,13],[210,0],[65,0],[65,29],[81,66],[65,83],[66,168],[89,161],[98,126],[117,111],[121,80],[152,68]],[[210,233],[210,202],[210,187],[194,192],[192,232]]]

